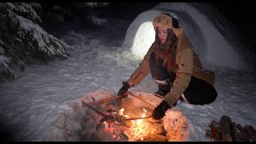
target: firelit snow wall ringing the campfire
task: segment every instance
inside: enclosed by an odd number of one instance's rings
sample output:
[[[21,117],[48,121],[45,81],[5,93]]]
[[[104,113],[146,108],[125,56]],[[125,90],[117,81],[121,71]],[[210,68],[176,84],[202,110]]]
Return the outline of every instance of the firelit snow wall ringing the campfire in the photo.
[[[162,102],[162,99],[155,97],[154,94],[133,92],[154,106]],[[58,114],[56,114],[51,126],[50,141],[128,141],[127,137],[122,135],[122,128],[114,127],[115,130],[105,130],[100,125],[102,116],[82,104],[82,102],[97,102],[113,96],[110,91],[97,90],[85,94],[79,100],[66,102],[59,106]],[[149,109],[146,103],[130,95],[122,99],[121,103],[121,106],[118,106],[120,104],[118,101],[112,101],[93,107],[105,114],[106,110],[120,110],[121,107],[128,111],[126,114],[138,113],[138,108],[141,107]],[[189,125],[182,112],[174,109],[167,110],[166,116],[163,118],[163,125],[167,131],[166,138],[168,141],[187,141],[189,139]],[[111,137],[113,134],[119,138]]]

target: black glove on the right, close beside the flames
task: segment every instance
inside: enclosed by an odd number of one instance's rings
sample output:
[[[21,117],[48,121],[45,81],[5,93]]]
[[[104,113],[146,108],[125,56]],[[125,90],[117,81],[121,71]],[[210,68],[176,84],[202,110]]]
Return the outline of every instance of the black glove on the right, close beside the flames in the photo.
[[[162,118],[163,116],[165,116],[167,109],[170,109],[170,106],[166,101],[162,101],[156,108],[154,108],[152,117],[154,119]]]

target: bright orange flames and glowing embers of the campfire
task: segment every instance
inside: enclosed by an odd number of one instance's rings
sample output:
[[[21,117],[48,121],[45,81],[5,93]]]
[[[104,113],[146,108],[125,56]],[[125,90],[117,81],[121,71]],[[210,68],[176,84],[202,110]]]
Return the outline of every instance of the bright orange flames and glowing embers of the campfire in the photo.
[[[126,118],[125,124],[119,122],[103,122],[106,131],[112,133],[112,138],[115,141],[121,140],[125,137],[128,141],[167,141],[164,134],[166,134],[162,122],[154,121],[153,119],[147,120],[146,109],[143,108],[143,114],[138,117],[135,115],[125,114],[124,108],[118,110],[118,114]],[[116,113],[114,113],[116,114]],[[134,118],[136,117],[136,118]],[[150,118],[148,116],[147,118]],[[120,128],[122,126],[122,128]],[[162,136],[161,136],[162,135]]]

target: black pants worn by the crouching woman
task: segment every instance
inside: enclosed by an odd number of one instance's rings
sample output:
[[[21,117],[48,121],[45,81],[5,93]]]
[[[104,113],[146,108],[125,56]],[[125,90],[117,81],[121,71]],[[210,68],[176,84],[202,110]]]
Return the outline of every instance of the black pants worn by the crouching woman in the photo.
[[[166,67],[162,66],[162,59],[158,58],[158,63],[156,62],[154,53],[150,55],[150,71],[152,77],[160,81],[168,79],[169,82],[174,82],[176,77],[176,74],[168,72]],[[191,77],[190,84],[183,94],[194,105],[204,105],[214,102],[218,95],[214,86],[194,76]]]

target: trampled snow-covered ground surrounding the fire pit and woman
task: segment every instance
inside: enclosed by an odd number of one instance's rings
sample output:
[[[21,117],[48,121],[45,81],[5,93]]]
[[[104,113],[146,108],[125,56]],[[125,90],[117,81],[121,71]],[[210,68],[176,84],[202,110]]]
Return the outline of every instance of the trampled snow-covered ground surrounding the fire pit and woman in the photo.
[[[48,65],[28,66],[26,73],[16,70],[14,81],[1,82],[2,131],[14,137],[15,141],[50,141],[55,116],[60,112],[69,114],[82,95],[95,90],[116,94],[122,81],[130,77],[140,62],[135,54],[122,47],[122,32],[126,31],[127,23],[110,19],[105,23],[106,28],[76,32],[66,27],[68,32],[60,38],[72,46],[70,58],[49,62]],[[194,30],[198,29],[195,27]],[[204,29],[201,30],[203,33]],[[219,40],[219,43],[229,43],[223,37]],[[194,42],[193,39],[191,41]],[[230,62],[230,66],[234,66],[232,64]],[[211,63],[207,67],[216,74],[214,87],[218,97],[215,102],[205,106],[181,103],[174,107],[174,110],[182,111],[190,123],[189,141],[210,141],[205,136],[208,123],[212,119],[219,120],[224,114],[242,126],[255,127],[255,73]],[[148,74],[133,89],[153,93],[157,85]]]

